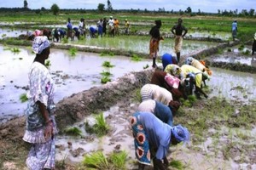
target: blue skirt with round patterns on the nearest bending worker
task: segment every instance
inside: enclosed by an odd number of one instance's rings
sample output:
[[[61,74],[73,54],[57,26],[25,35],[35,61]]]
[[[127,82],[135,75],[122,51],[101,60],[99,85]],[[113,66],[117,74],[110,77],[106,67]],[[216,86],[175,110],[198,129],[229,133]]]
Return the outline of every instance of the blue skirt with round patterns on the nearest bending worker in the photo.
[[[143,129],[143,125],[140,122],[140,113],[136,112],[131,117],[131,128],[134,138],[135,155],[137,161],[145,165],[150,164],[150,150],[147,135]]]

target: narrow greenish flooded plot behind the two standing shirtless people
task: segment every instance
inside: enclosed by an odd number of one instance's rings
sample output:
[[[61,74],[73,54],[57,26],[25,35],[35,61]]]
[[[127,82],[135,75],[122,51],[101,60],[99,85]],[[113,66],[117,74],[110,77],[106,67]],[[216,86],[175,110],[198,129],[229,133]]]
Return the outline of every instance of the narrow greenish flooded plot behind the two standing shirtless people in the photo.
[[[99,41],[94,38],[87,38],[85,41],[79,42],[71,42],[71,43],[79,43],[81,45],[88,46],[100,46],[103,48],[119,48],[124,49],[125,51],[134,51],[143,54],[148,54],[149,48],[149,40],[150,37],[137,37],[137,36],[124,36],[124,37],[98,37]],[[184,38],[183,40],[183,49],[181,54],[188,55],[192,53],[196,53],[206,48],[212,48],[217,46],[216,42],[201,42],[201,41],[190,41]],[[165,38],[165,40],[160,41],[160,49],[158,55],[163,54],[172,54],[176,56],[174,53],[174,41],[173,38]]]

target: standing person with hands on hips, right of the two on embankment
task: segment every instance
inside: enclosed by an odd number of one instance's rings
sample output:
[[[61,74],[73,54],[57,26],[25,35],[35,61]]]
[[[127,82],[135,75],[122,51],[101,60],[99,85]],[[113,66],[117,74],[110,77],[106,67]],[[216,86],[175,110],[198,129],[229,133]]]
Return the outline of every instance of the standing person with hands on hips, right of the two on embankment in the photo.
[[[183,45],[183,37],[187,34],[188,29],[185,28],[183,25],[183,20],[179,18],[177,20],[177,25],[172,27],[172,34],[175,36],[175,45],[174,45],[174,50],[177,55],[177,63],[180,60],[180,51]],[[175,30],[175,31],[174,31]],[[184,33],[183,33],[184,31]]]

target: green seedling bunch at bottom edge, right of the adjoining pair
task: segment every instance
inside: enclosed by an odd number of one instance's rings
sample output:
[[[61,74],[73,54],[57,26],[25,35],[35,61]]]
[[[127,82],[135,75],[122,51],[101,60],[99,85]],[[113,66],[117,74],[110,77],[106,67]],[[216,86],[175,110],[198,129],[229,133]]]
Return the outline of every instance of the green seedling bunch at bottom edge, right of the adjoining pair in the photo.
[[[125,150],[120,152],[113,152],[109,156],[109,161],[113,163],[114,169],[125,169],[125,161],[127,160],[127,153]]]

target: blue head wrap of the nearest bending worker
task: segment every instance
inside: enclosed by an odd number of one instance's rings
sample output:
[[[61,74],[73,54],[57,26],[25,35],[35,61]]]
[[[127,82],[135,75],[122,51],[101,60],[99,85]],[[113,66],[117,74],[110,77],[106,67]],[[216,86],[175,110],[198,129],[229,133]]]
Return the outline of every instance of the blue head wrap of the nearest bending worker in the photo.
[[[177,125],[172,127],[172,134],[177,142],[188,142],[189,141],[189,130],[186,127]]]

